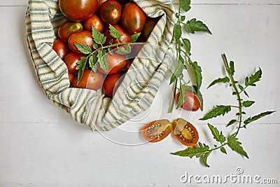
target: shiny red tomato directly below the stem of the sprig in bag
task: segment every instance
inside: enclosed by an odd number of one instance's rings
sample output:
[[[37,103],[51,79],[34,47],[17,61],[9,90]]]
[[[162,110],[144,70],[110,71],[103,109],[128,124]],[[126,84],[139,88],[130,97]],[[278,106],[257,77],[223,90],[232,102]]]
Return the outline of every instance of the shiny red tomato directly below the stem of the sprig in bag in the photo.
[[[113,55],[108,55],[108,71],[104,71],[99,64],[97,64],[97,70],[102,74],[116,74],[124,69],[126,65],[125,57],[114,53]]]

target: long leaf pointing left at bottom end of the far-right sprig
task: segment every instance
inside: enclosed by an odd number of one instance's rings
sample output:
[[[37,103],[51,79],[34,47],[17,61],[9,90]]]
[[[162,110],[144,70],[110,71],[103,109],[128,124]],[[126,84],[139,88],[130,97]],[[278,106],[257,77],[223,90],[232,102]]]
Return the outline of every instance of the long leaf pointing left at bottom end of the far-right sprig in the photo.
[[[172,153],[172,155],[179,155],[179,156],[184,156],[184,157],[190,157],[193,158],[193,156],[196,156],[197,158],[201,157],[209,151],[209,146],[206,144],[198,144],[193,147],[188,147],[183,151],[177,151],[176,153]]]

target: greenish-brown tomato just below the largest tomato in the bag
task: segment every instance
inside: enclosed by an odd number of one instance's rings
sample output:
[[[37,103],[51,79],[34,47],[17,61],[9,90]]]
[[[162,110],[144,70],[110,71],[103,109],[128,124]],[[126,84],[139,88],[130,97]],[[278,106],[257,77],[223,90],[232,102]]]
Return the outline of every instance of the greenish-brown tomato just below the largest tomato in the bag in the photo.
[[[72,22],[72,21],[66,21],[60,25],[58,29],[58,36],[62,41],[67,42],[69,39],[69,36],[73,32],[81,31],[83,30],[83,25],[80,22]]]

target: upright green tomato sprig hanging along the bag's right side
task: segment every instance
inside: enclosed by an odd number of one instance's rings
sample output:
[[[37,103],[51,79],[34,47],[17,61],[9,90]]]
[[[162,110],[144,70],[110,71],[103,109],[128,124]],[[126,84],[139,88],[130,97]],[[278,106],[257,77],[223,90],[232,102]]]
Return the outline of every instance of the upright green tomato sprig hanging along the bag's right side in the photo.
[[[179,1],[179,11],[176,13],[177,22],[174,25],[173,36],[175,39],[176,46],[176,57],[178,59],[178,65],[170,78],[170,84],[174,83],[174,98],[176,95],[176,90],[179,90],[179,102],[176,106],[178,109],[186,99],[185,90],[193,91],[197,97],[200,99],[201,107],[203,110],[203,97],[200,92],[200,86],[202,85],[202,69],[198,65],[197,62],[193,62],[190,58],[190,40],[183,38],[183,32],[187,34],[195,34],[195,32],[208,32],[211,34],[207,25],[205,25],[202,21],[193,18],[191,20],[186,21],[186,15],[182,15],[182,13],[186,13],[190,11],[190,0],[180,0]],[[187,70],[187,67],[193,68],[195,83],[193,85],[188,85],[186,81],[183,79],[183,70]],[[174,108],[174,99],[172,101],[172,106],[169,112],[172,112]]]

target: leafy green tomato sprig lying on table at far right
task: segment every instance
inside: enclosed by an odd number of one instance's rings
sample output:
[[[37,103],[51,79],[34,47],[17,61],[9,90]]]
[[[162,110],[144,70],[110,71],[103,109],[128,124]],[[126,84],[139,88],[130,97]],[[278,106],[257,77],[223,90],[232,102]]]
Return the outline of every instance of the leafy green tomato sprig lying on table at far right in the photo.
[[[248,92],[246,92],[246,88],[248,87],[254,87],[258,81],[260,81],[260,78],[262,76],[262,70],[258,69],[254,74],[251,76],[247,76],[245,78],[245,84],[242,85],[241,82],[236,81],[234,78],[235,74],[235,66],[234,62],[230,61],[228,63],[227,57],[225,54],[222,55],[223,57],[223,62],[225,65],[225,70],[228,73],[228,76],[225,76],[223,78],[218,78],[215,81],[213,81],[209,87],[216,85],[217,83],[225,83],[226,85],[229,85],[230,88],[233,89],[232,95],[235,95],[237,97],[237,102],[238,104],[236,106],[234,105],[218,105],[215,106],[214,109],[209,111],[203,118],[200,120],[208,120],[211,118],[216,118],[217,116],[224,116],[226,113],[229,113],[232,111],[232,108],[238,109],[237,113],[235,113],[236,118],[230,120],[230,122],[227,124],[228,126],[231,125],[236,125],[237,130],[230,134],[228,138],[225,137],[222,131],[219,131],[217,127],[214,127],[214,125],[211,125],[208,123],[208,127],[214,136],[214,139],[218,142],[218,144],[214,144],[212,148],[210,148],[209,145],[207,144],[202,144],[201,142],[198,143],[196,146],[193,147],[188,147],[183,151],[178,151],[176,153],[172,153],[174,155],[179,155],[179,156],[185,156],[185,157],[190,157],[193,158],[196,156],[197,158],[202,158],[204,165],[209,167],[207,163],[207,158],[209,155],[216,150],[220,150],[222,153],[227,154],[226,148],[231,148],[232,151],[236,151],[237,153],[244,155],[246,158],[248,158],[248,154],[244,150],[244,148],[241,146],[241,141],[237,138],[237,135],[239,134],[239,131],[242,128],[246,128],[246,126],[249,123],[252,123],[255,120],[258,120],[259,118],[265,117],[271,113],[274,113],[275,111],[265,111],[262,112],[258,115],[255,115],[253,117],[248,117],[245,120],[244,115],[246,115],[246,112],[244,109],[252,106],[255,101],[251,100],[246,100],[243,99],[241,96],[244,97],[249,97]],[[243,95],[244,94],[244,95]]]

